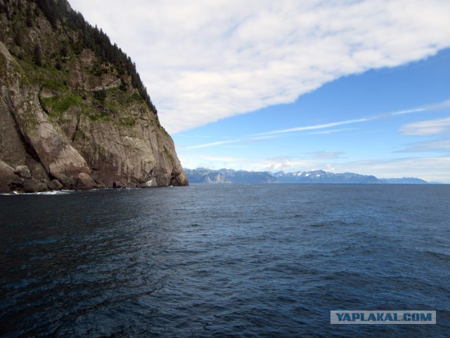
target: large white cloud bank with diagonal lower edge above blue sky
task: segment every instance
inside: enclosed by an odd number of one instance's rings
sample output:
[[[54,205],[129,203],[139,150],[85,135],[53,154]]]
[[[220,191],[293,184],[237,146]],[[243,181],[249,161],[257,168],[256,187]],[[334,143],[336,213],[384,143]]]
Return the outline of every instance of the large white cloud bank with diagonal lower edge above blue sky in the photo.
[[[70,3],[136,61],[172,133],[450,46],[447,0]]]

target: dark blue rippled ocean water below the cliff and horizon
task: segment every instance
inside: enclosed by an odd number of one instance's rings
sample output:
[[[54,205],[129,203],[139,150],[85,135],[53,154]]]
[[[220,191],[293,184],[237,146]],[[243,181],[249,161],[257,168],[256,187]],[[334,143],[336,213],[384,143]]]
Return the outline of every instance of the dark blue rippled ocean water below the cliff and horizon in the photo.
[[[450,185],[0,196],[0,263],[2,338],[449,337]]]

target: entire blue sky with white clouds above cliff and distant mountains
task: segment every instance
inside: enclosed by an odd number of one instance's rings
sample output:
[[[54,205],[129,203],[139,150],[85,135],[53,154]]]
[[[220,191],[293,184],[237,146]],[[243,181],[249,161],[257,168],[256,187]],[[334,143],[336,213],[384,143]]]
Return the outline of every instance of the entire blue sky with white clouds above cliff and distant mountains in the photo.
[[[448,0],[69,0],[127,55],[185,168],[450,183]]]

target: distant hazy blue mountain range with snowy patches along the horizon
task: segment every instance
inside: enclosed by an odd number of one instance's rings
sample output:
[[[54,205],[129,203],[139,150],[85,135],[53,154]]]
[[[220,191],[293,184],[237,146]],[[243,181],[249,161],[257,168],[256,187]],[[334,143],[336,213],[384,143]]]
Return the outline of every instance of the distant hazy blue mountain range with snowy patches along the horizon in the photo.
[[[268,183],[309,183],[309,184],[427,184],[414,177],[377,178],[372,175],[355,173],[329,173],[323,170],[297,171],[296,173],[270,173],[268,171],[246,171],[233,169],[211,170],[207,168],[184,168],[189,183],[200,184],[268,184]]]

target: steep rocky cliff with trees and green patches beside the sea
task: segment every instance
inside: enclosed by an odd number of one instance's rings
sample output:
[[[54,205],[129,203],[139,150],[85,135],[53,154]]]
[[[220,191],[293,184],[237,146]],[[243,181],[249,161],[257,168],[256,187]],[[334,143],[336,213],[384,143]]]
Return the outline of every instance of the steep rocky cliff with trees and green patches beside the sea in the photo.
[[[0,192],[188,184],[134,64],[103,32],[65,0],[0,0],[0,19]]]

